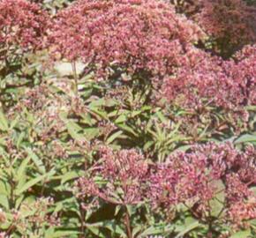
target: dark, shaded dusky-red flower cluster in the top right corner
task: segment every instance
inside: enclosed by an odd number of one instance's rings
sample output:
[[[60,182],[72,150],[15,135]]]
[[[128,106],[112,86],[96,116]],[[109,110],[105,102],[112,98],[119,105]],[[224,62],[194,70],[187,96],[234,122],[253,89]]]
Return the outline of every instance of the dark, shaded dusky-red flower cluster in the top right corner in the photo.
[[[214,38],[215,51],[224,56],[256,40],[256,9],[244,0],[170,0],[170,3]]]

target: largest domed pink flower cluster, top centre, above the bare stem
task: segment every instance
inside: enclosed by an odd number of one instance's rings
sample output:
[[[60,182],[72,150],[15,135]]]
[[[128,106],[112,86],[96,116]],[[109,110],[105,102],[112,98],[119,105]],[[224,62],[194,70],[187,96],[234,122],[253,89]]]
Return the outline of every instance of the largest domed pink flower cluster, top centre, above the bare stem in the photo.
[[[200,27],[155,0],[80,0],[60,11],[49,41],[56,53],[97,69],[147,71],[159,78],[181,65]]]

